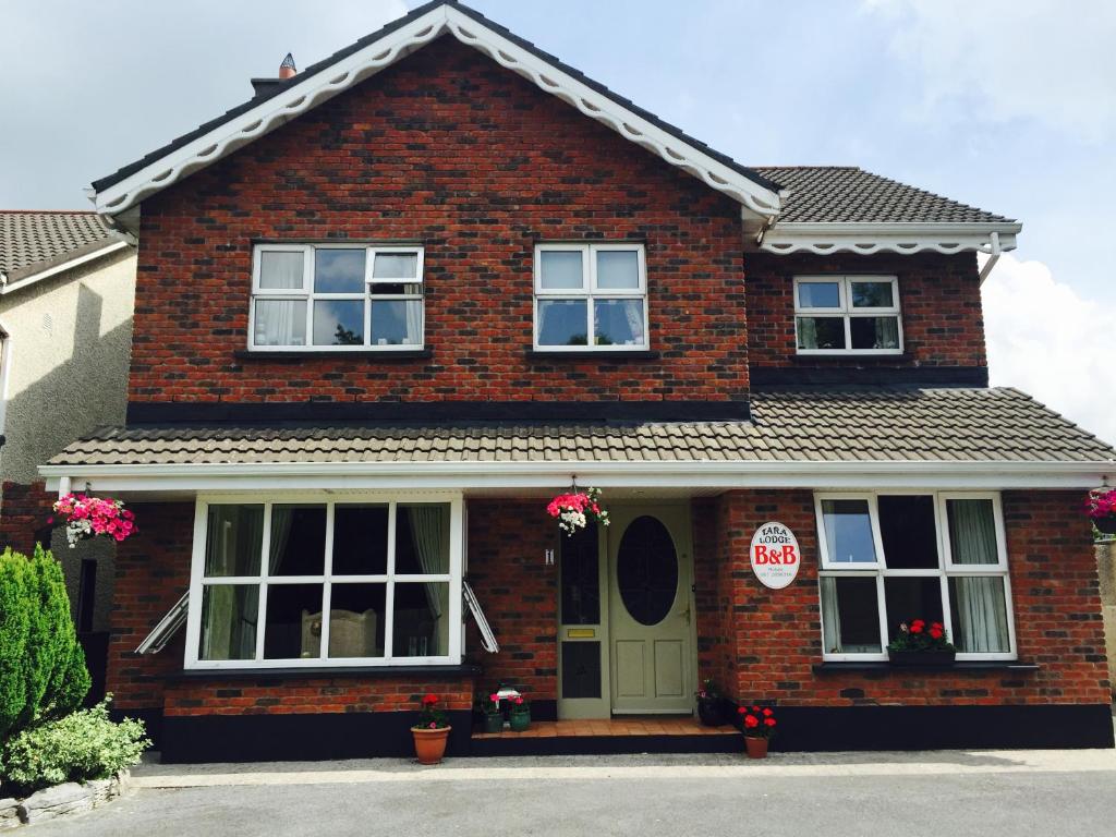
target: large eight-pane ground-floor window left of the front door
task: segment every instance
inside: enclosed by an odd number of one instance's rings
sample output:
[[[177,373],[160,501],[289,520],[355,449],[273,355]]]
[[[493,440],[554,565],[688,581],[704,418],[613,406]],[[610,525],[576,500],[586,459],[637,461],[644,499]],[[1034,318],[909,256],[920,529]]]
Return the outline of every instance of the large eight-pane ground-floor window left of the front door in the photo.
[[[458,497],[200,501],[187,667],[459,663]]]

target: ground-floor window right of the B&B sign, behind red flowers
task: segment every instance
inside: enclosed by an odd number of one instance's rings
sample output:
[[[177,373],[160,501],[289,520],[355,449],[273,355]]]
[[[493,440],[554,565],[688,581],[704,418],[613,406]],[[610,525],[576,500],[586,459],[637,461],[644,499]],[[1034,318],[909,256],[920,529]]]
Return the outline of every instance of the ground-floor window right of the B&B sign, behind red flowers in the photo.
[[[903,623],[941,622],[959,660],[1012,660],[998,494],[818,494],[826,660],[883,660]]]

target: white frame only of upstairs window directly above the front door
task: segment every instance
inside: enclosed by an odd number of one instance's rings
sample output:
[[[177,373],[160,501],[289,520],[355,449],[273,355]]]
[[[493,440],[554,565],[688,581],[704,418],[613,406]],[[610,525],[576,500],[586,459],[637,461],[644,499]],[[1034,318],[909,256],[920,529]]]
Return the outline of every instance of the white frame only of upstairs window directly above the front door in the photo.
[[[635,250],[639,270],[638,288],[598,288],[597,287],[597,253],[607,251]],[[542,287],[542,253],[545,251],[565,251],[581,253],[581,288],[543,288]],[[584,299],[586,300],[586,340],[584,346],[550,346],[539,343],[539,304],[545,300]],[[643,302],[643,343],[625,346],[598,346],[596,340],[595,302],[597,299],[638,299]],[[533,347],[537,352],[646,352],[651,348],[651,312],[647,299],[647,254],[643,243],[608,241],[599,243],[539,243],[535,246],[535,305],[533,324],[531,326]]]

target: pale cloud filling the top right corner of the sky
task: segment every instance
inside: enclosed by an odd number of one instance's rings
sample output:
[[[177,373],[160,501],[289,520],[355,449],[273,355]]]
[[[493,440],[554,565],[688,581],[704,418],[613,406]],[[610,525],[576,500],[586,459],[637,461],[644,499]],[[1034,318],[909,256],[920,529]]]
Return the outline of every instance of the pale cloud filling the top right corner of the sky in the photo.
[[[1090,143],[1116,134],[1116,3],[1107,0],[865,0],[894,27],[922,115],[1036,119]]]

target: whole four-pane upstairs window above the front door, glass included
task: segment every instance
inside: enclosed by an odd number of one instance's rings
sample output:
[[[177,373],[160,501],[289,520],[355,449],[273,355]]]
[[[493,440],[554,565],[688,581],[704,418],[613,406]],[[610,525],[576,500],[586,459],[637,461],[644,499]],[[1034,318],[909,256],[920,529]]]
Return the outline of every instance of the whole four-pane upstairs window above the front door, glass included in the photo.
[[[535,248],[535,348],[623,352],[647,347],[643,244]]]

